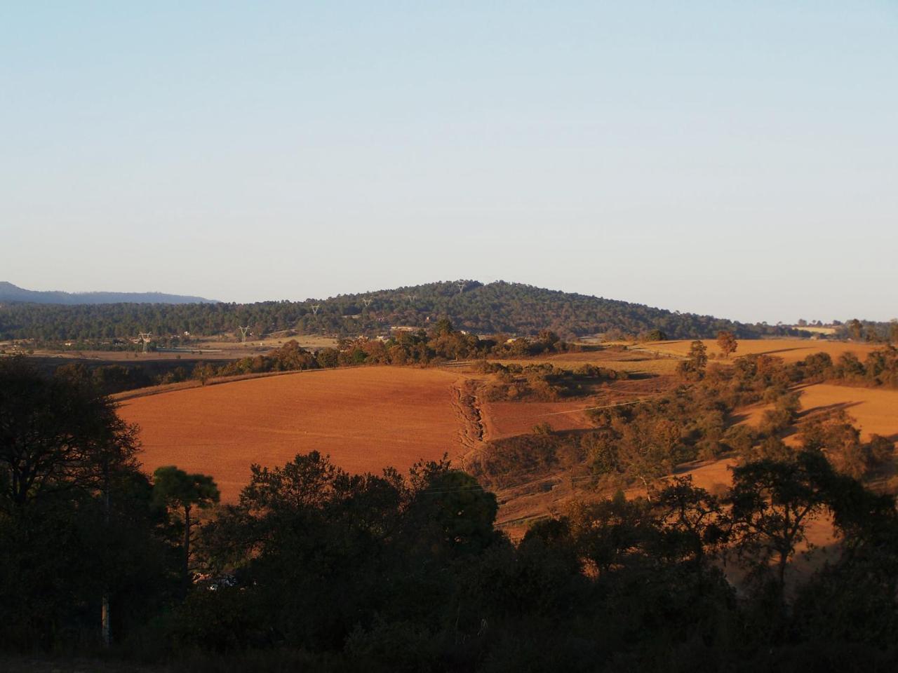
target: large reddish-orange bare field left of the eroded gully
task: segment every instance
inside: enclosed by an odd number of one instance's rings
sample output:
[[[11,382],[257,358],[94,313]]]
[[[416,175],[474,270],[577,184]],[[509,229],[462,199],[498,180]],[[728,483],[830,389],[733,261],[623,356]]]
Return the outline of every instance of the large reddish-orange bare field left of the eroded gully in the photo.
[[[216,477],[233,502],[250,464],[283,465],[319,450],[350,472],[462,451],[455,372],[411,367],[304,371],[125,401],[139,424],[144,468],[177,465]]]

